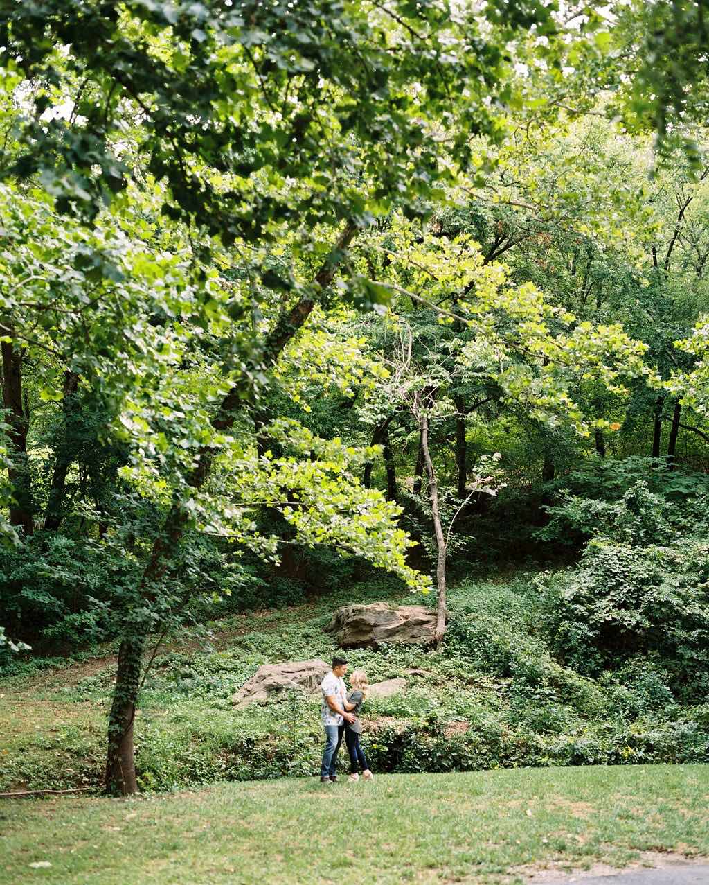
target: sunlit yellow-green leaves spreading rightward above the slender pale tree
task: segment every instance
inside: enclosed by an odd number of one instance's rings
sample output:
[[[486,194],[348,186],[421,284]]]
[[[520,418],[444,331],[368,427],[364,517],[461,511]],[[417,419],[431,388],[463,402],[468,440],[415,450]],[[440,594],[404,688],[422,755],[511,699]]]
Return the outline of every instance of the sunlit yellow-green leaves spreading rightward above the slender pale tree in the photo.
[[[430,305],[439,322],[455,322],[461,329],[457,350],[450,350],[456,342],[449,342],[436,359],[429,358],[422,389],[444,380],[437,381],[431,370],[447,349],[457,361],[456,370],[446,370],[449,376],[457,371],[461,378],[494,381],[507,401],[523,404],[531,417],[570,423],[588,435],[590,422],[578,404],[583,385],[600,381],[622,394],[629,379],[652,378],[643,342],[632,340],[618,324],[577,320],[533,283],[513,283],[507,266],[485,262],[469,235],[452,240],[419,235],[415,243],[409,236],[404,227],[398,250],[389,250],[393,260],[387,273],[397,282],[395,290],[404,297],[410,293],[414,304]],[[377,242],[372,245],[377,248]],[[453,376],[446,383],[453,383]]]

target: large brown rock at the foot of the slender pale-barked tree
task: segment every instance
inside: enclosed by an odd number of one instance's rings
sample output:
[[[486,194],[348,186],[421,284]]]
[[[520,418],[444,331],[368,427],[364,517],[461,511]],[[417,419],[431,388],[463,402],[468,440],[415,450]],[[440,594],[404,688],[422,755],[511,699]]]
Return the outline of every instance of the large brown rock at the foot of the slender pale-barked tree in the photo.
[[[342,649],[377,649],[381,643],[430,643],[436,613],[423,605],[343,605],[325,627]]]

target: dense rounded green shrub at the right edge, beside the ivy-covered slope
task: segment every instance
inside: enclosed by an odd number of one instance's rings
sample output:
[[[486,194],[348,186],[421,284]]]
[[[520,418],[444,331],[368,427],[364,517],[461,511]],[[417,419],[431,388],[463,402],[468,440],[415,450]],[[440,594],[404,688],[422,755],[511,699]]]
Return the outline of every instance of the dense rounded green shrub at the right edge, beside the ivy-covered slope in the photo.
[[[594,539],[578,568],[542,582],[556,656],[580,673],[654,655],[685,697],[709,689],[709,543],[640,547]]]

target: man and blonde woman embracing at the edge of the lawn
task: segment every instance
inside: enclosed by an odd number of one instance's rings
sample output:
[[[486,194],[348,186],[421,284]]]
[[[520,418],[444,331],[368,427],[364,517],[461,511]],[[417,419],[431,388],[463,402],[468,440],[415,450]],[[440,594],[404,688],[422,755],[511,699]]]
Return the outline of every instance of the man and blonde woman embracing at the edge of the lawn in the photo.
[[[362,766],[362,778],[371,781],[374,775],[370,772],[364,750],[360,746],[362,722],[360,710],[367,697],[369,682],[363,670],[354,670],[350,680],[352,690],[347,694],[343,676],[347,673],[345,658],[333,658],[332,670],[320,684],[323,692],[323,725],[325,729],[325,749],[323,765],[320,767],[320,782],[334,783],[337,781],[337,757],[342,736],[349,753],[350,781],[358,781],[358,767]]]

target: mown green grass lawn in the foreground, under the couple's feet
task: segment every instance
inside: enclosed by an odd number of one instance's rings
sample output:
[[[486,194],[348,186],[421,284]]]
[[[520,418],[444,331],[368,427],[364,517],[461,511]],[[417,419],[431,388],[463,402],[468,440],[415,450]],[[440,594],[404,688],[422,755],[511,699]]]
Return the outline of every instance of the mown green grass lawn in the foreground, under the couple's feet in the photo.
[[[709,766],[390,774],[0,804],[0,883],[522,882],[709,854]],[[38,861],[49,867],[32,867]]]

